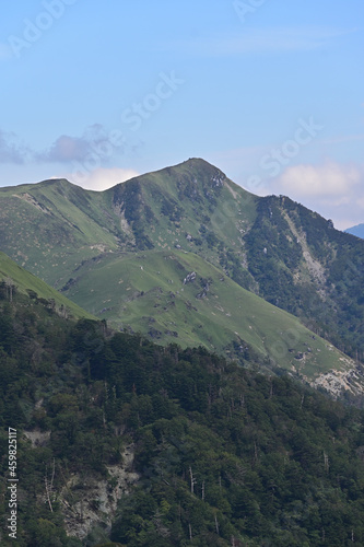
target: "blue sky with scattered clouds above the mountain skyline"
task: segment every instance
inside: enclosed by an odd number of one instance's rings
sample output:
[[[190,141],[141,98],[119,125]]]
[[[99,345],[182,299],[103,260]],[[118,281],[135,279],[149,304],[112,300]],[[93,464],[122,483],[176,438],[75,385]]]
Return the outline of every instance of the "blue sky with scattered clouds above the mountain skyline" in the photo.
[[[0,186],[203,158],[364,222],[363,0],[3,0]]]

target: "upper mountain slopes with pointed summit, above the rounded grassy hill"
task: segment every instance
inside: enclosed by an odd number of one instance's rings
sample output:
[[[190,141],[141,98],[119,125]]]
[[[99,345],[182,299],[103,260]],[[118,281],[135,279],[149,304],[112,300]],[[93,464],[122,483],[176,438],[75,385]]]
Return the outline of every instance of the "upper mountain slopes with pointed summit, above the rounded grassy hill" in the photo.
[[[64,179],[0,188],[1,249],[57,289],[83,260],[178,245],[215,266],[227,253],[226,271],[254,286],[239,265],[239,240],[255,220],[257,199],[203,160],[103,193]]]

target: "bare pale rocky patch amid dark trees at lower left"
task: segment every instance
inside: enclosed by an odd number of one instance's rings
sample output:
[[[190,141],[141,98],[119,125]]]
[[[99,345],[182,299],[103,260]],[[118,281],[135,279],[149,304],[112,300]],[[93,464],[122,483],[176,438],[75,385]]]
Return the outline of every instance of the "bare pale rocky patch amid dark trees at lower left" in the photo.
[[[139,479],[139,474],[132,472],[133,458],[134,451],[130,445],[122,453],[121,464],[107,466],[108,479],[83,479],[77,474],[67,481],[60,493],[60,503],[69,536],[83,539],[97,525],[106,534],[110,532],[118,501]]]

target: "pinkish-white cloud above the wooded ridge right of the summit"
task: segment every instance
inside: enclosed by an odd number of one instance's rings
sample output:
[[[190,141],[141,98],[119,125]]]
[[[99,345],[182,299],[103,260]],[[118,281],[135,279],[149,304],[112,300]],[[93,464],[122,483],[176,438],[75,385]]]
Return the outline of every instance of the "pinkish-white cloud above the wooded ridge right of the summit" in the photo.
[[[361,181],[361,172],[355,166],[336,163],[325,165],[294,165],[287,167],[272,186],[280,194],[295,197],[344,198]]]

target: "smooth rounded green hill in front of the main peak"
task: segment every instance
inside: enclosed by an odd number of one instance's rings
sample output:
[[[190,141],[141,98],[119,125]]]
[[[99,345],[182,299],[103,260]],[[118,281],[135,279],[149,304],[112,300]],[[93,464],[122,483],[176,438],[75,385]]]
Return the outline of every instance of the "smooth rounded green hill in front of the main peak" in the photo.
[[[184,284],[192,271],[195,281]],[[79,274],[66,292],[70,299],[111,325],[131,326],[160,344],[203,345],[219,353],[233,351],[235,344],[238,354],[246,342],[261,358],[269,356],[278,365],[310,379],[348,364],[339,351],[294,316],[246,291],[192,253],[107,256],[85,264]],[[204,298],[197,298],[207,281]],[[303,359],[296,359],[300,353]]]

